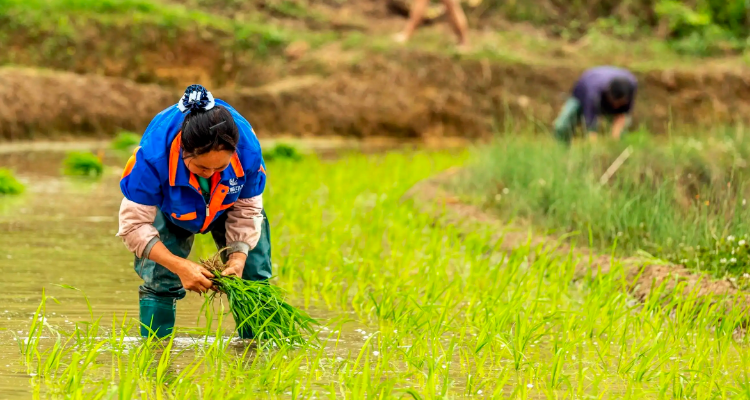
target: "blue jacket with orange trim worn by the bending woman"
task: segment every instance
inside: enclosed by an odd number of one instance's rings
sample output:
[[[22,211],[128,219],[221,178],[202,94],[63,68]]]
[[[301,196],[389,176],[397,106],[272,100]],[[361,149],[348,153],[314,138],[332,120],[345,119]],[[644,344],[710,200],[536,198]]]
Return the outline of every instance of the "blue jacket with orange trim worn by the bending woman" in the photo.
[[[120,180],[128,200],[158,207],[177,226],[193,233],[206,232],[238,199],[258,196],[266,186],[260,143],[250,123],[226,102],[217,99],[216,104],[232,114],[240,140],[229,167],[211,179],[208,204],[198,179],[182,160],[180,128],[185,115],[176,105],[160,112],[148,125]]]

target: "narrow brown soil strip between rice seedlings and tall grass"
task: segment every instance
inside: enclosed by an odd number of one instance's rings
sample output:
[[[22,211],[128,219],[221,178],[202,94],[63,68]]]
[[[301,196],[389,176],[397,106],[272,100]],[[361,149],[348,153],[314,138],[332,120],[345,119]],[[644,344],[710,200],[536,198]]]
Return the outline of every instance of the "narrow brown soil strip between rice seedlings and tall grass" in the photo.
[[[445,188],[445,183],[460,176],[461,172],[461,169],[451,169],[419,182],[404,195],[404,200],[412,201],[419,211],[434,216],[442,224],[454,225],[466,231],[480,225],[493,227],[494,231],[499,232],[493,240],[502,237],[502,249],[505,251],[511,251],[530,240],[532,247],[552,247],[561,256],[572,254],[573,259],[578,260],[576,279],[610,272],[613,261],[610,255],[596,254],[581,246],[571,248],[558,238],[534,235],[530,239],[527,230],[505,225],[496,216],[459,201]],[[739,306],[743,310],[750,308],[748,294],[738,290],[731,281],[712,279],[681,265],[653,264],[639,257],[616,261],[624,266],[630,293],[638,300],[643,301],[659,289],[662,296],[681,291],[684,295],[695,293],[699,302],[721,302],[722,307]]]

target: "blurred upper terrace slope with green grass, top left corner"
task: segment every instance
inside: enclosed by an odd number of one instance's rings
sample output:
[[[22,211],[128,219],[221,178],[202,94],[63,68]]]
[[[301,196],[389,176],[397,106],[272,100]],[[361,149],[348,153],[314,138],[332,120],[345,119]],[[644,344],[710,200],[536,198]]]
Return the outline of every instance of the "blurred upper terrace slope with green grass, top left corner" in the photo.
[[[235,20],[146,0],[0,0],[0,25],[0,63],[168,85],[224,84],[295,37],[261,14]]]

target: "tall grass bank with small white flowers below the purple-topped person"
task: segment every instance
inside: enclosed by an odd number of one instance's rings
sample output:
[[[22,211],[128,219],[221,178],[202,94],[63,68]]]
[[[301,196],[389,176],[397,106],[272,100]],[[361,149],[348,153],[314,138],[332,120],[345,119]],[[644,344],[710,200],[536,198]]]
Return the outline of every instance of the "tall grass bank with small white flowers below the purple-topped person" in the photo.
[[[750,139],[742,129],[696,137],[633,133],[622,142],[566,148],[550,138],[505,137],[476,154],[456,188],[470,201],[620,254],[645,250],[722,276],[748,268]],[[622,152],[632,155],[608,182]],[[728,245],[737,238],[734,246]]]

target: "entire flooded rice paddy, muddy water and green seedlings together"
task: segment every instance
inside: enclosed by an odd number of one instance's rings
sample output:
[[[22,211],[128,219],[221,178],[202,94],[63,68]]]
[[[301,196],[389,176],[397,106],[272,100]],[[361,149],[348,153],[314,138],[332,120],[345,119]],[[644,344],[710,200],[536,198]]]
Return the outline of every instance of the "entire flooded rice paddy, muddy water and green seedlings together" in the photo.
[[[62,176],[60,152],[3,154],[27,191],[0,197],[0,398],[750,396],[742,311],[658,290],[636,301],[616,267],[575,280],[579,260],[504,253],[496,232],[401,201],[466,156],[269,163],[274,283],[324,325],[317,347],[258,349],[228,316],[217,332],[218,309],[207,326],[195,294],[173,342],[135,337],[140,281],[114,236],[122,155],[83,180]]]

